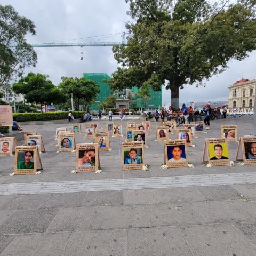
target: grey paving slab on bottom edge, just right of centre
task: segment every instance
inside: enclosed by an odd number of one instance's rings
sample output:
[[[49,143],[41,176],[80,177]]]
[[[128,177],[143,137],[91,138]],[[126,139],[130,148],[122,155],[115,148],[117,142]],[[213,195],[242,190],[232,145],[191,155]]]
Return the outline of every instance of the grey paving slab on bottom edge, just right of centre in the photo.
[[[178,227],[127,230],[127,256],[192,256]]]

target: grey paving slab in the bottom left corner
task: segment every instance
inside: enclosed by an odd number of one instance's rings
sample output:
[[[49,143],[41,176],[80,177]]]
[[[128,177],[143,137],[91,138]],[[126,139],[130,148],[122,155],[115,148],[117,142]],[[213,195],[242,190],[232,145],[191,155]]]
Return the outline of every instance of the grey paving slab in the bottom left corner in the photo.
[[[43,233],[16,236],[12,242],[5,247],[1,256],[63,255],[69,236],[70,233]]]

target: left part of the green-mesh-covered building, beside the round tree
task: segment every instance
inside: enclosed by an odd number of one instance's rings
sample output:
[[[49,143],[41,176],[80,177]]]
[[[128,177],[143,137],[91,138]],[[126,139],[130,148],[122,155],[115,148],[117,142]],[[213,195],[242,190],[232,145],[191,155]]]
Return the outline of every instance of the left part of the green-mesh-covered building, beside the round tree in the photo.
[[[102,82],[103,79],[110,79],[110,76],[106,73],[84,73],[84,77],[97,82],[100,87],[100,93],[97,95],[97,98],[90,107],[90,110],[99,110],[99,103],[105,102],[108,95],[112,93],[109,85]]]

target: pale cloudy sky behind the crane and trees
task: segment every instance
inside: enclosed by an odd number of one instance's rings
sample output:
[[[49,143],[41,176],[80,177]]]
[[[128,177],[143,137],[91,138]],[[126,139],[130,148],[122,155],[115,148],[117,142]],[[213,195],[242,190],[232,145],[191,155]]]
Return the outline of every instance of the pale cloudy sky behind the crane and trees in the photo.
[[[124,0],[1,0],[34,21],[36,36],[27,36],[28,43],[51,42],[121,42],[117,34],[125,31],[129,5]],[[105,36],[102,36],[105,35]],[[80,39],[83,38],[83,39]],[[76,39],[76,40],[74,40]],[[107,73],[117,68],[111,46],[35,48],[36,68],[26,71],[48,74],[55,85],[61,76],[82,77],[83,73]],[[256,51],[243,61],[231,61],[229,69],[205,81],[205,87],[186,85],[180,91],[180,102],[219,101],[228,99],[228,86],[242,76],[256,78]],[[171,101],[170,90],[163,89],[163,102]]]

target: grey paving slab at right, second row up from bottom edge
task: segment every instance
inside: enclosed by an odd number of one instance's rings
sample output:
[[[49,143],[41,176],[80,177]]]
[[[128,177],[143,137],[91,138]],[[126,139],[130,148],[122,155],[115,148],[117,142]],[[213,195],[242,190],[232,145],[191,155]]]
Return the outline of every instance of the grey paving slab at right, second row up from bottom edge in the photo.
[[[190,203],[194,214],[204,223],[252,221],[230,201],[210,201]]]

